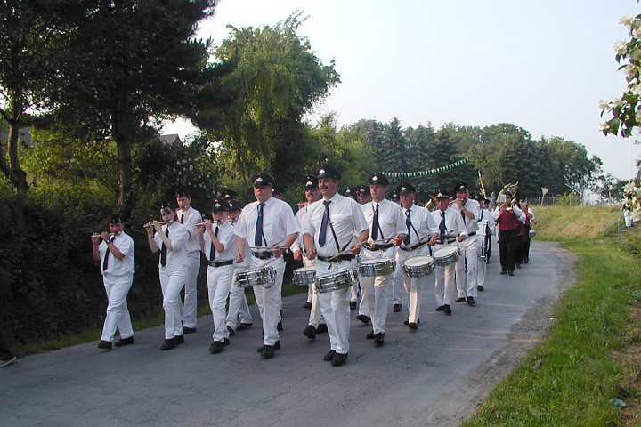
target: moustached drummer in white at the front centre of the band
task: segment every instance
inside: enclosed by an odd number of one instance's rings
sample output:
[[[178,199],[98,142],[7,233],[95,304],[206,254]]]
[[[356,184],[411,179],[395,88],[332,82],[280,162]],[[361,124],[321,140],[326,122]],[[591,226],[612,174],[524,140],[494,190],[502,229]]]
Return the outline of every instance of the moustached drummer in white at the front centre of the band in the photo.
[[[361,249],[358,244],[367,239],[369,230],[361,206],[337,193],[340,173],[330,165],[319,165],[316,173],[323,198],[307,206],[303,239],[307,258],[316,260],[316,278],[321,278],[333,271],[354,270]],[[330,342],[323,360],[339,367],[349,351],[350,293],[338,289],[317,295]]]

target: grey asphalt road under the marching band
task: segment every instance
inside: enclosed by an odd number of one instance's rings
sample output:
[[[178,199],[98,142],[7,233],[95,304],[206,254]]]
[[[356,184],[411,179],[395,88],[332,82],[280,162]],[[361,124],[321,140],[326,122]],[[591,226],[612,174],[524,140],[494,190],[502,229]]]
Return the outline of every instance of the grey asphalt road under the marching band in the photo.
[[[0,369],[0,426],[456,426],[483,402],[548,327],[552,305],[572,283],[573,257],[532,242],[531,262],[499,275],[493,249],[477,305],[434,311],[434,275],[416,332],[390,310],[385,346],[355,319],[343,367],[322,356],[329,337],[302,334],[304,294],[284,300],[282,349],[264,360],[260,321],[209,354],[211,319],[177,349],[159,351],[162,329],[104,352],[97,342],[20,359]],[[391,308],[391,306],[390,306]]]

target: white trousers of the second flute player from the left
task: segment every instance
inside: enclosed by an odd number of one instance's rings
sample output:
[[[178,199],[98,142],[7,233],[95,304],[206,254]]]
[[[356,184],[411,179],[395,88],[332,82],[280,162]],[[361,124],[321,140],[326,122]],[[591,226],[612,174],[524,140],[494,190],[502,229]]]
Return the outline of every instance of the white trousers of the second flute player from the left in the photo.
[[[187,270],[167,270],[165,267],[158,269],[160,276],[160,289],[163,293],[163,309],[165,310],[165,339],[169,340],[176,335],[183,334],[181,313],[183,302],[181,302],[180,291],[183,289]]]

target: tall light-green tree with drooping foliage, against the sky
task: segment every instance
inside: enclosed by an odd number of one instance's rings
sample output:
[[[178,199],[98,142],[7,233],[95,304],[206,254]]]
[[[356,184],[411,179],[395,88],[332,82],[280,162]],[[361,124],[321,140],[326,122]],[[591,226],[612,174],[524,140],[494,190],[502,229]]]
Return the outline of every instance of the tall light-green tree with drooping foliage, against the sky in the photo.
[[[294,12],[274,27],[230,27],[231,36],[216,51],[219,60],[236,65],[223,79],[235,101],[231,109],[202,111],[196,123],[233,153],[235,178],[246,188],[247,165],[269,170],[277,181],[294,179],[291,165],[309,154],[302,117],[339,83],[333,61],[324,66],[298,36],[303,22]],[[206,125],[212,115],[222,117],[215,129]]]

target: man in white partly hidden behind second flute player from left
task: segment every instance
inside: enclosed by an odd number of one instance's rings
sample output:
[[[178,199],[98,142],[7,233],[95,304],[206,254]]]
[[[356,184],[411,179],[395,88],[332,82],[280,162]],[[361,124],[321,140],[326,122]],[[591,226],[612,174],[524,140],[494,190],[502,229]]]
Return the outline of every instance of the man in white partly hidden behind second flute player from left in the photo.
[[[183,334],[196,332],[196,311],[198,310],[198,274],[200,271],[200,242],[196,225],[202,222],[202,215],[191,207],[191,193],[187,189],[176,190],[176,221],[187,228],[187,279],[185,281],[185,296],[183,304]]]

